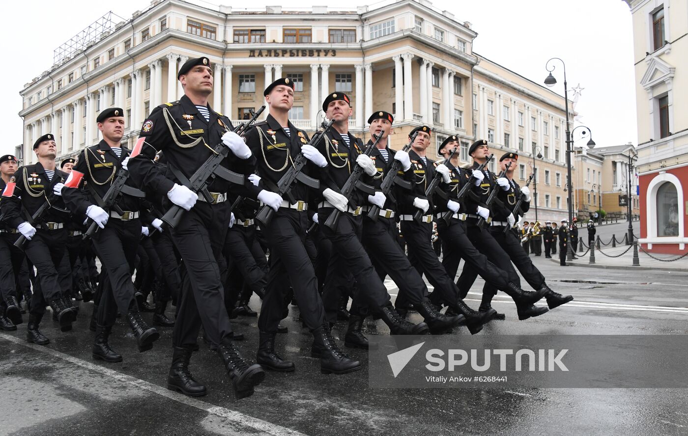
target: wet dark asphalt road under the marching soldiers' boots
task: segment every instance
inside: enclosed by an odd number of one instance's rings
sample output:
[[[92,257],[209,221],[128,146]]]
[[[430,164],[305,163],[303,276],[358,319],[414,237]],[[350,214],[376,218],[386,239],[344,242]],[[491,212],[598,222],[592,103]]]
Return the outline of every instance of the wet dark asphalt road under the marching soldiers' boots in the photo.
[[[504,296],[493,306],[507,319],[486,325],[494,334],[687,334],[688,273],[561,268],[533,258],[548,284],[575,301],[544,316],[519,322]],[[391,294],[396,287],[388,282]],[[476,281],[467,303],[480,303]],[[394,295],[392,295],[394,298]],[[252,301],[254,309],[259,301]],[[201,342],[191,369],[208,395],[190,399],[165,389],[171,358],[171,329],[153,350],[138,353],[120,320],[111,345],[124,362],[92,360],[87,328],[90,303],[81,303],[74,331],[63,334],[45,316],[47,347],[23,340],[25,324],[0,332],[0,435],[685,435],[685,389],[369,389],[366,353],[348,350],[363,369],[321,375],[310,358],[310,335],[291,307],[289,333],[277,349],[294,360],[294,373],[268,373],[255,395],[235,400],[219,358]],[[147,315],[149,316],[149,315]],[[26,316],[25,316],[26,318]],[[420,320],[413,314],[414,320]],[[234,324],[246,335],[239,343],[252,358],[257,318]],[[334,333],[343,337],[346,326]],[[368,334],[387,334],[367,320]],[[465,329],[457,330],[460,343]]]

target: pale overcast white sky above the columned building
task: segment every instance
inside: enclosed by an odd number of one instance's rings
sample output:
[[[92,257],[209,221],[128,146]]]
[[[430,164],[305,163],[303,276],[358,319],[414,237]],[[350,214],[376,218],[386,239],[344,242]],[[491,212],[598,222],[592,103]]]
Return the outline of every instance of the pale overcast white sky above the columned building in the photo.
[[[225,3],[236,8],[246,4]],[[279,2],[254,0],[251,7],[276,3]],[[288,0],[282,6],[310,8],[313,3],[312,0]],[[454,14],[457,21],[472,23],[478,34],[473,46],[475,52],[535,83],[541,84],[546,78],[545,64],[549,58],[561,58],[566,62],[569,90],[583,88],[576,111],[581,116],[580,122],[590,128],[597,146],[637,144],[632,21],[625,1],[435,0],[432,3]],[[145,10],[149,4],[134,0],[104,3],[25,0],[3,7],[6,17],[30,14],[31,25],[25,19],[10,19],[0,28],[6,59],[6,67],[0,72],[6,98],[0,107],[0,119],[5,125],[0,154],[14,153],[14,146],[23,141],[23,121],[18,115],[19,91],[32,78],[50,69],[53,50],[109,10],[129,19],[134,11]],[[323,4],[336,9],[365,3]],[[374,7],[374,3],[369,4]],[[561,63],[555,65],[552,74],[558,83],[552,89],[563,95]],[[578,134],[574,139],[577,138]],[[579,142],[587,141],[576,144]]]

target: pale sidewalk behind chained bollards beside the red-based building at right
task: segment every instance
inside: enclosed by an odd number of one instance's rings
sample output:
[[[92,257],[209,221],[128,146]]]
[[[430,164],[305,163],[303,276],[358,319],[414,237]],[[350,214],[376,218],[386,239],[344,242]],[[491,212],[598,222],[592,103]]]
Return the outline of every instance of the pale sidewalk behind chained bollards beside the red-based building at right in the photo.
[[[642,252],[640,246],[638,246],[638,261],[640,261],[640,266],[633,266],[633,246],[617,245],[616,248],[603,246],[601,250],[595,249],[595,263],[590,263],[590,251],[585,253],[584,256],[581,256],[583,252],[577,252],[576,255],[578,259],[567,261],[566,263],[574,266],[609,268],[613,270],[667,270],[688,272],[688,256],[678,259],[677,261],[660,261],[652,259],[652,257]],[[651,254],[657,259],[663,260],[671,260],[679,257],[678,254]],[[559,263],[559,254],[552,256],[552,262]]]

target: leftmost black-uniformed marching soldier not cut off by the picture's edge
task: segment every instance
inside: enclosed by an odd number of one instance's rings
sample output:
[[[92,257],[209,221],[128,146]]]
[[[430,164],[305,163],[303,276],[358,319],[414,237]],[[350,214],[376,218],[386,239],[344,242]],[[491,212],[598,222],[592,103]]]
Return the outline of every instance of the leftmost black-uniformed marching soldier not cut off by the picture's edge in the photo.
[[[56,149],[52,133],[38,138],[34,142],[38,162],[17,169],[3,191],[2,200],[6,223],[10,228],[17,228],[28,240],[24,252],[37,270],[26,338],[39,345],[50,342],[39,330],[46,305],[58,314],[62,331],[71,330],[76,317],[71,302],[67,305],[64,299],[72,285],[69,265],[63,263],[67,243],[65,219],[69,218],[69,211],[59,196],[67,174],[56,167]],[[26,217],[34,215],[52,197],[54,201],[43,221],[30,224]]]

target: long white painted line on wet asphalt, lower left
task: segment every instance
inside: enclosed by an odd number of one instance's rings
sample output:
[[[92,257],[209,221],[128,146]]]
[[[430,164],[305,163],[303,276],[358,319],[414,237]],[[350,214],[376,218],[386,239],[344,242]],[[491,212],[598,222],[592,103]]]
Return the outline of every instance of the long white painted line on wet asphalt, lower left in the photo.
[[[14,336],[10,336],[8,334],[0,333],[0,338],[7,340],[9,342],[14,342],[17,345],[23,345],[24,347],[28,347],[36,351],[41,351],[42,353],[50,354],[51,356],[54,356],[56,358],[67,360],[67,362],[71,362],[82,368],[89,369],[90,371],[95,371],[96,373],[106,375],[107,377],[117,380],[118,382],[131,384],[133,386],[138,387],[139,389],[143,389],[144,391],[149,391],[150,393],[166,397],[169,400],[173,400],[175,402],[182,403],[186,406],[197,408],[201,411],[206,411],[207,413],[211,413],[212,415],[216,415],[218,417],[229,419],[233,422],[233,424],[251,427],[255,430],[259,430],[268,435],[305,436],[303,433],[299,433],[297,430],[292,430],[291,428],[286,428],[283,426],[279,426],[277,424],[272,424],[262,419],[245,415],[241,412],[233,411],[229,408],[215,406],[213,404],[197,400],[196,398],[187,397],[186,395],[182,395],[181,393],[169,391],[168,389],[165,389],[162,386],[158,386],[157,384],[153,384],[145,380],[140,380],[136,377],[132,377],[131,375],[126,375],[118,371],[113,371],[112,369],[99,367],[96,364],[86,362],[85,360],[75,358],[74,356],[69,356],[69,354],[62,353],[61,351],[45,348],[41,345],[30,344],[28,342],[25,342],[24,340],[15,338]]]

